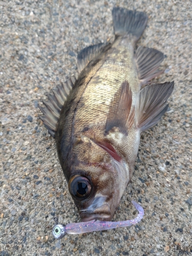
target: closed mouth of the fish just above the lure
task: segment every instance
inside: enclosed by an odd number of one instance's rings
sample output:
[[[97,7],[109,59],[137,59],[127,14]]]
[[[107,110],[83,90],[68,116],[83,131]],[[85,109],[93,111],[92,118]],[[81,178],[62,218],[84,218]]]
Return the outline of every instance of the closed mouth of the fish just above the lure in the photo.
[[[92,211],[89,208],[80,210],[80,218],[83,222],[91,220],[109,221],[113,216],[111,216],[109,205],[103,204]]]

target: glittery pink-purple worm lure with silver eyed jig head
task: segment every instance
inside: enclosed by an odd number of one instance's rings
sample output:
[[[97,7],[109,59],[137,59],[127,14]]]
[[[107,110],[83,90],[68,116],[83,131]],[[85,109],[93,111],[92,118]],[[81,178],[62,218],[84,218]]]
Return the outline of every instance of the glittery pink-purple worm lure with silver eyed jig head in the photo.
[[[63,224],[58,223],[58,218],[54,218],[56,224],[53,227],[52,234],[56,239],[61,239],[67,233],[81,234],[86,232],[100,231],[100,230],[112,229],[117,227],[127,227],[127,226],[135,225],[138,222],[140,222],[141,219],[143,218],[144,210],[135,201],[132,201],[132,204],[139,211],[139,214],[133,220],[117,221],[117,222],[91,220],[87,222],[70,223],[65,226]]]

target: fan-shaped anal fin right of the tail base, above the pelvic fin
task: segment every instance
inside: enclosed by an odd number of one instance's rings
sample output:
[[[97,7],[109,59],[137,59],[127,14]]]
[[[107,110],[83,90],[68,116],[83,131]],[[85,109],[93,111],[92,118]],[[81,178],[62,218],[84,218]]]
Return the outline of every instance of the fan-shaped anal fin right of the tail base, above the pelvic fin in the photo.
[[[164,70],[158,70],[163,59],[163,53],[160,51],[141,46],[137,48],[135,60],[141,85],[147,84],[148,81],[164,72]]]

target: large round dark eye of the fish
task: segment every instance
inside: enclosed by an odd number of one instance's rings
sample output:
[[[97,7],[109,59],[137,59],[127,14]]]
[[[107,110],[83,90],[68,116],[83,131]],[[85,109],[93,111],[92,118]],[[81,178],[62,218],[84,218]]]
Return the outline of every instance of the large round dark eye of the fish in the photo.
[[[72,197],[78,200],[87,199],[92,192],[90,181],[80,175],[73,176],[69,181],[68,187]]]

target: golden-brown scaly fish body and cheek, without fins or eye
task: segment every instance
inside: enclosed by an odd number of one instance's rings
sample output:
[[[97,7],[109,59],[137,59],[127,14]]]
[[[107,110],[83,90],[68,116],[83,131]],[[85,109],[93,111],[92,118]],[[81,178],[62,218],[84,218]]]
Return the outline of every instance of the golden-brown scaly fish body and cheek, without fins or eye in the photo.
[[[133,88],[132,95],[136,101],[136,94],[140,88],[133,63],[133,46],[127,38],[117,39],[108,51],[100,55],[99,59],[90,62],[81,72],[73,88],[74,94],[70,95],[71,98],[69,97],[66,101],[66,106],[68,105],[70,109],[63,108],[56,133],[60,163],[62,168],[69,172],[68,176],[66,175],[67,180],[78,173],[90,176],[93,186],[97,187],[98,194],[105,197],[105,200],[109,195],[113,197],[110,200],[112,205],[107,209],[108,212],[104,208],[105,215],[109,216],[107,220],[112,219],[123,191],[131,179],[140,140],[139,130],[134,129],[135,123],[129,135],[119,132],[115,127],[112,133],[105,134],[110,103],[125,80]],[[130,68],[127,69],[127,67]],[[66,115],[66,112],[69,114]],[[71,124],[70,129],[69,124]],[[75,138],[80,139],[80,142],[76,144]],[[98,145],[99,142],[105,141],[115,148],[117,155],[122,159],[120,162],[114,160]],[[120,167],[117,168],[116,165]],[[117,190],[115,193],[114,188]],[[93,198],[97,198],[96,194],[95,191]],[[77,201],[76,205],[82,209],[78,203]],[[88,204],[90,200],[83,202],[83,208],[87,209]],[[81,211],[81,216],[84,214],[87,214],[87,211]]]

